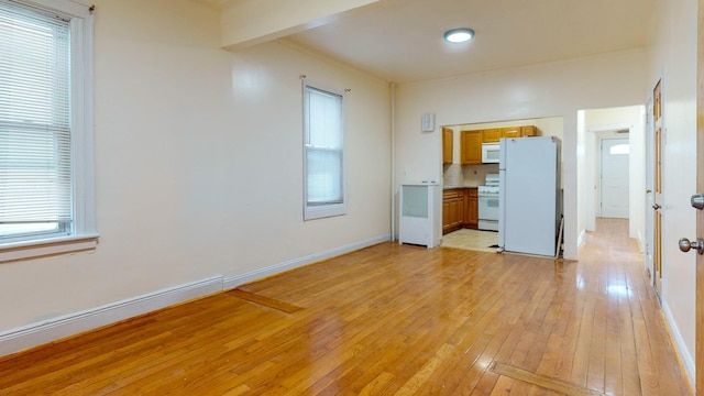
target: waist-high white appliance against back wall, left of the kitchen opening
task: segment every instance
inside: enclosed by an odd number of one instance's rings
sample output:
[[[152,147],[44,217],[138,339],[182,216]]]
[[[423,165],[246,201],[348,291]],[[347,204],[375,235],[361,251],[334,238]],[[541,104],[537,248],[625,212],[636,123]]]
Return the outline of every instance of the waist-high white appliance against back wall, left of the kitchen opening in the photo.
[[[440,244],[440,207],[442,200],[437,183],[405,183],[400,185],[398,243],[435,248]]]

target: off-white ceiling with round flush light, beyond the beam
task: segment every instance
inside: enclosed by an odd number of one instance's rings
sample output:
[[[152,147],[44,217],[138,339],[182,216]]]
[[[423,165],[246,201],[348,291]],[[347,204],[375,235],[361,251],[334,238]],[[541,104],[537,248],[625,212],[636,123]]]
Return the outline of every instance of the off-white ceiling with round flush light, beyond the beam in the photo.
[[[641,48],[654,8],[656,0],[383,0],[288,40],[408,82]],[[474,29],[473,41],[443,41],[463,26]]]

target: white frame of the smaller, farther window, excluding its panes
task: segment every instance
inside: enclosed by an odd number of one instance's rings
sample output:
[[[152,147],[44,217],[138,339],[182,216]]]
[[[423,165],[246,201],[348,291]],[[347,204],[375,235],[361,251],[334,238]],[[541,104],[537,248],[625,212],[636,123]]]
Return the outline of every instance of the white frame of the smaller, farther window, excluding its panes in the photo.
[[[310,205],[308,201],[308,152],[311,150],[308,144],[308,134],[309,134],[309,125],[308,118],[306,117],[306,112],[308,111],[309,101],[306,99],[306,90],[310,88],[314,90],[322,91],[326,94],[334,95],[340,97],[340,114],[341,120],[340,124],[342,125],[341,131],[341,145],[342,147],[339,150],[341,153],[340,161],[340,188],[341,188],[341,202],[332,202],[332,204],[315,204]],[[345,91],[330,88],[326,85],[314,82],[307,79],[302,79],[301,86],[301,100],[302,100],[302,160],[304,160],[304,221],[322,219],[329,217],[344,216],[348,210],[348,188],[346,188],[346,125],[345,125]],[[331,151],[329,147],[318,147],[318,151]],[[338,151],[338,150],[334,150]]]

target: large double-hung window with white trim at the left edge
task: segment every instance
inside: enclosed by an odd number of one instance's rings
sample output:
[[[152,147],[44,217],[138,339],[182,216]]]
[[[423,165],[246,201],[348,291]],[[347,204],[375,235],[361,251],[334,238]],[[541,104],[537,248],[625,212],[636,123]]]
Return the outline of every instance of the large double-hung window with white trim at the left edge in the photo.
[[[95,239],[91,36],[76,2],[0,0],[0,261]]]

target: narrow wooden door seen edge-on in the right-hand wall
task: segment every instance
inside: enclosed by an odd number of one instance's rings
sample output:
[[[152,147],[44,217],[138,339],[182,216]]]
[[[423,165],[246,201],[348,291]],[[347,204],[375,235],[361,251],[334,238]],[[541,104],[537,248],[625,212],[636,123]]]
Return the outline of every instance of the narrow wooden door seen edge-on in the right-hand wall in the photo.
[[[662,80],[656,84],[652,91],[652,119],[654,123],[652,285],[660,298],[662,295]]]

